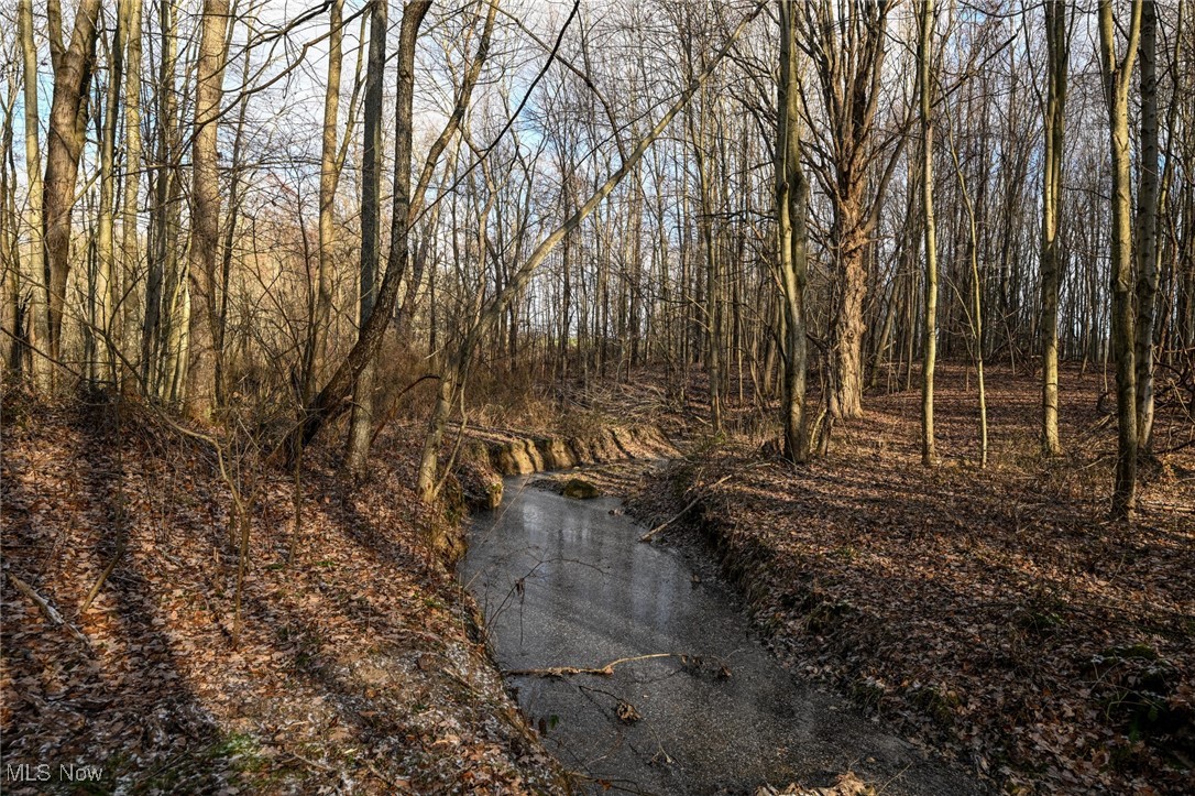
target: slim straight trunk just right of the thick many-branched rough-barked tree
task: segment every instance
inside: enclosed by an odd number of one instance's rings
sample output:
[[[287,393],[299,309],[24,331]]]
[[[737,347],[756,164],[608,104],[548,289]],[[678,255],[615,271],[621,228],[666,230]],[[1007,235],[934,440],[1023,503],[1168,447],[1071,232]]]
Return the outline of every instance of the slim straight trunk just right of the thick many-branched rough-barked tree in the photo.
[[[933,367],[938,356],[938,240],[933,219],[933,109],[930,44],[933,39],[933,0],[918,14],[918,93],[921,109],[921,210],[925,216],[925,326],[921,351],[921,464],[937,464],[933,440]]]

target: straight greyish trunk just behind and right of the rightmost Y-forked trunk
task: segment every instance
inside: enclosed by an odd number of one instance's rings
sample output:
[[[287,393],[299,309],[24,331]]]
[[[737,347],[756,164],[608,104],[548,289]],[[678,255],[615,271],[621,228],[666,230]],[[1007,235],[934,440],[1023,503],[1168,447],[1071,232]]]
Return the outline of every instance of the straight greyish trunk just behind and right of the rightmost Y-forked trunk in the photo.
[[[1141,155],[1136,188],[1136,443],[1153,436],[1153,331],[1158,299],[1158,11],[1141,7]]]

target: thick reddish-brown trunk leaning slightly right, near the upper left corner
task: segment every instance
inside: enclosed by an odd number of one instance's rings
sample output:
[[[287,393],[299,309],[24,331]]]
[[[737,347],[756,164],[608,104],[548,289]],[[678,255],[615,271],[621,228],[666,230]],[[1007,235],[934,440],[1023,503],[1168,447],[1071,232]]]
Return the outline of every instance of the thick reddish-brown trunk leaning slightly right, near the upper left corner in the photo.
[[[47,349],[55,362],[62,355],[62,312],[67,296],[67,277],[71,274],[71,212],[75,202],[79,158],[82,155],[86,137],[87,92],[96,56],[96,38],[99,33],[99,0],[80,0],[75,11],[71,47],[62,53],[54,73],[54,99],[50,104],[42,207],[49,308]]]

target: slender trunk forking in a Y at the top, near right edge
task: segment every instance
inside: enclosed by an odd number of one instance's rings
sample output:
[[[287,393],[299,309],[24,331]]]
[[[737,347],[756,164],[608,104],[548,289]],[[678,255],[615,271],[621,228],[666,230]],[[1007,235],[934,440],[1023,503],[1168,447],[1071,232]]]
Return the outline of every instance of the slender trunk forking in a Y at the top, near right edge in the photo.
[[[1111,0],[1099,2],[1099,71],[1108,100],[1111,196],[1111,350],[1116,362],[1116,476],[1113,516],[1127,519],[1136,500],[1136,369],[1133,361],[1133,185],[1128,137],[1129,82],[1141,31],[1142,0],[1133,0],[1128,42],[1116,56]]]

